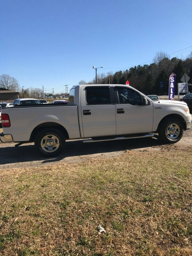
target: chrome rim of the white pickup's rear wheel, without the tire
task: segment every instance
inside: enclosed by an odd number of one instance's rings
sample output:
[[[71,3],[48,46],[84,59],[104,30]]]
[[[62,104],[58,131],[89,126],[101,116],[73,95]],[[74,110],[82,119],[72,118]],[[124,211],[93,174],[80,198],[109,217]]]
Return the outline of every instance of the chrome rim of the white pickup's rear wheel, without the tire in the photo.
[[[59,139],[53,134],[48,134],[41,140],[41,148],[48,153],[56,151],[60,146]]]

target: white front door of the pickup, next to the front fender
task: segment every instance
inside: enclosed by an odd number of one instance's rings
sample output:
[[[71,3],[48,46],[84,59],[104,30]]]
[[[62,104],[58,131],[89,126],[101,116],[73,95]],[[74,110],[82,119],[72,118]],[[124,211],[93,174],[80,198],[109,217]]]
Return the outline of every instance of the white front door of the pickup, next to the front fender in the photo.
[[[114,87],[116,104],[116,135],[148,133],[153,127],[153,103],[142,105],[143,96],[128,86]]]

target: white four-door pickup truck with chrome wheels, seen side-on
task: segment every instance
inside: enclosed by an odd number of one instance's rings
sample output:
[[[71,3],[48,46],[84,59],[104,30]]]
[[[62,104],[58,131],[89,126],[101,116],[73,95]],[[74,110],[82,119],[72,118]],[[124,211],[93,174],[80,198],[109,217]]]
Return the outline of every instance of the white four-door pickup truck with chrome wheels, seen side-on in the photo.
[[[76,85],[63,105],[41,104],[2,108],[2,142],[35,142],[43,156],[57,156],[66,140],[84,142],[153,137],[178,142],[191,128],[185,102],[153,101],[122,84]],[[90,139],[91,138],[91,139]]]

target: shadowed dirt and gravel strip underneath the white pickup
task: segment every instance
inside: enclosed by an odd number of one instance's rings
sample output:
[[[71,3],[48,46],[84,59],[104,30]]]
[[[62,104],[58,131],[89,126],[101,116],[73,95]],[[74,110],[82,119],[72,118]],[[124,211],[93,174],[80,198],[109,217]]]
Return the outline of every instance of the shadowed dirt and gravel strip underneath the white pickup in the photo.
[[[2,129],[0,129],[0,133]],[[68,140],[60,156],[44,158],[36,153],[34,143],[15,147],[16,143],[0,143],[0,164],[4,168],[36,167],[50,164],[86,162],[92,158],[112,158],[123,155],[127,150],[159,151],[163,148],[192,148],[192,130],[184,132],[183,138],[171,145],[162,145],[156,138],[114,140],[83,143],[83,140]]]

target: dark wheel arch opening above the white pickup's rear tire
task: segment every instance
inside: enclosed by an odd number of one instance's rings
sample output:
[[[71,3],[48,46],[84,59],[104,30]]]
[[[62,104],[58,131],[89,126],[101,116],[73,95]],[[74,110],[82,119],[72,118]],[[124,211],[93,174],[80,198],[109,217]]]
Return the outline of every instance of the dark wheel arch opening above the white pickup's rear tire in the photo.
[[[58,129],[60,132],[62,132],[64,134],[66,140],[69,139],[69,135],[68,135],[67,130],[61,124],[54,123],[54,122],[46,122],[46,123],[42,123],[42,124],[37,125],[33,129],[33,131],[31,132],[30,141],[33,142],[35,140],[35,137],[36,137],[37,133],[42,131],[45,128]]]

